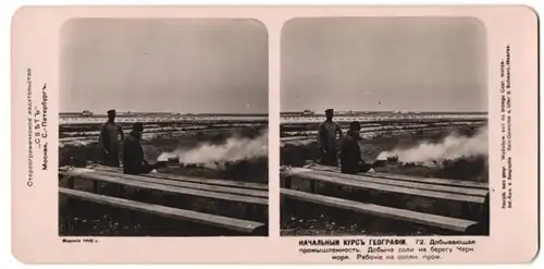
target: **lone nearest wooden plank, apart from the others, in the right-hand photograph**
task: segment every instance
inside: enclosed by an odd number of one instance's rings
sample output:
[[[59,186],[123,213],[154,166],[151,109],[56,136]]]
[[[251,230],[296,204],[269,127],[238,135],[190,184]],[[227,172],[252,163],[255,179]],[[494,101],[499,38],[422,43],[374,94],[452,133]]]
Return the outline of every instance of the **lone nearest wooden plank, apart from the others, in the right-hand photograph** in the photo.
[[[384,207],[384,206],[379,206],[379,205],[373,205],[373,204],[358,203],[358,201],[346,200],[346,199],[341,199],[341,198],[336,198],[336,197],[298,192],[298,191],[294,191],[294,189],[282,188],[281,194],[282,194],[282,196],[285,196],[285,197],[289,197],[289,198],[294,198],[294,199],[298,199],[298,200],[304,200],[304,201],[308,201],[308,203],[313,203],[313,204],[319,204],[319,205],[324,205],[324,206],[330,206],[330,207],[335,207],[335,208],[341,208],[341,209],[346,209],[346,210],[353,210],[356,212],[368,213],[368,215],[373,215],[373,216],[383,217],[383,218],[403,220],[403,221],[417,223],[417,224],[437,227],[441,229],[446,229],[446,230],[457,231],[457,232],[465,232],[465,230],[469,225],[472,225],[475,223],[474,221],[470,221],[470,220],[462,220],[462,219],[456,219],[456,218],[410,211],[410,210],[406,210],[406,209]]]

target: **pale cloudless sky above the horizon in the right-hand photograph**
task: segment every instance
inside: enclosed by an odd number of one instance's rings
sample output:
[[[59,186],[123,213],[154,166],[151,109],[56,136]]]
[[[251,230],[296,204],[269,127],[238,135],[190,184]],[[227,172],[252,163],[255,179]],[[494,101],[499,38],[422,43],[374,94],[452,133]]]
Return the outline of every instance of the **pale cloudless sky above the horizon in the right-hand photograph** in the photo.
[[[294,19],[281,47],[282,111],[487,111],[477,19]]]

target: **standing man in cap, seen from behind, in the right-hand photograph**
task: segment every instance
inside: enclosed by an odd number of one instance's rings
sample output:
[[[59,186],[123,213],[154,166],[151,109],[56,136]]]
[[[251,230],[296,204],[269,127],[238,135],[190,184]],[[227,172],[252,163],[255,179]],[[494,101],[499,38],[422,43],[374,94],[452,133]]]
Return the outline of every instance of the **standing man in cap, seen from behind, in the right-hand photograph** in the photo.
[[[325,110],[326,120],[318,127],[318,147],[321,155],[321,164],[338,166],[336,134],[342,139],[342,127],[333,121],[334,110]]]

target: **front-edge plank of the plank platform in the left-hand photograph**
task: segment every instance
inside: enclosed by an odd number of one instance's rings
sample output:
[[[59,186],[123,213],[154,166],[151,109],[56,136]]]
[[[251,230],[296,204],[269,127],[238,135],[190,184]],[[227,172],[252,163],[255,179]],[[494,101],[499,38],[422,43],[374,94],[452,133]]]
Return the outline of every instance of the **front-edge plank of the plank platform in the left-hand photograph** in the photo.
[[[125,186],[133,186],[133,187],[137,187],[137,188],[147,188],[147,189],[161,191],[161,192],[166,192],[166,193],[190,195],[190,196],[200,196],[200,197],[208,197],[208,198],[214,198],[214,199],[221,199],[221,200],[242,201],[242,203],[256,204],[256,205],[268,205],[268,199],[251,197],[251,196],[242,196],[242,195],[235,195],[235,194],[222,194],[222,193],[199,191],[199,189],[194,189],[194,188],[162,185],[162,184],[157,184],[157,183],[147,183],[147,182],[141,182],[141,181],[114,178],[114,176],[103,175],[103,174],[98,174],[98,173],[92,173],[92,172],[75,172],[74,173],[74,172],[59,171],[59,173],[62,175],[75,176],[75,178],[83,179],[83,180],[109,182],[109,183],[115,183],[115,184],[121,184],[121,185],[125,185]]]

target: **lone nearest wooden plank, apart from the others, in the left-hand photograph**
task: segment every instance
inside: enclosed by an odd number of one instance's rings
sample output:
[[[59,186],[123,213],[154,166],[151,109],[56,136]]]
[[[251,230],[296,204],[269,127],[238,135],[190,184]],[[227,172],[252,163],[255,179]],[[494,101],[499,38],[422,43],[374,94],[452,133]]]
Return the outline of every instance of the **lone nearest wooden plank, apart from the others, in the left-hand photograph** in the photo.
[[[98,195],[98,194],[69,189],[63,187],[59,188],[59,193],[67,197],[91,201],[100,205],[119,207],[138,212],[151,213],[156,216],[174,218],[201,224],[214,225],[244,233],[254,233],[257,230],[264,228],[263,223],[255,221],[234,219],[228,217],[202,213],[202,212],[165,207],[160,205],[151,205],[135,200],[122,199],[122,198]]]

